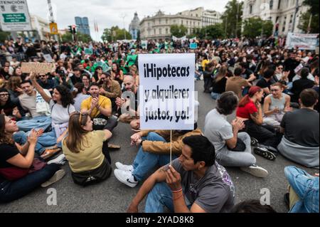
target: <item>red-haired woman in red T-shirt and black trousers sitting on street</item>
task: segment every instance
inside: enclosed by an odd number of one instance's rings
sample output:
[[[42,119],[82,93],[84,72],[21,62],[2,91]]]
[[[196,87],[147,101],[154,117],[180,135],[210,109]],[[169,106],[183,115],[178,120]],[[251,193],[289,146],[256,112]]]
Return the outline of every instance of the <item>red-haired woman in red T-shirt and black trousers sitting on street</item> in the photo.
[[[277,152],[277,145],[280,142],[277,134],[267,127],[262,126],[263,116],[260,102],[264,96],[262,88],[253,86],[245,97],[240,100],[237,110],[237,117],[244,120],[245,132],[252,137],[252,143],[264,145],[270,152]],[[273,132],[272,132],[273,131]],[[261,146],[255,147],[254,152],[261,155]],[[275,156],[265,157],[274,160]]]

